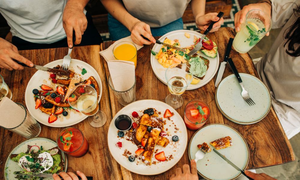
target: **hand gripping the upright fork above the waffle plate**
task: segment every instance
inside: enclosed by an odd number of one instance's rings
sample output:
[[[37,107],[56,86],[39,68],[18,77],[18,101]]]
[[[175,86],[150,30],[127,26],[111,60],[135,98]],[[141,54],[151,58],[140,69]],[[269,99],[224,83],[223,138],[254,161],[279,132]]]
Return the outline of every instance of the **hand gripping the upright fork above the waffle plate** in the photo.
[[[66,4],[62,15],[62,26],[67,35],[69,48],[73,47],[73,30],[75,31],[76,41],[74,44],[80,44],[83,33],[88,26],[88,20],[83,13],[83,8],[79,4]]]

